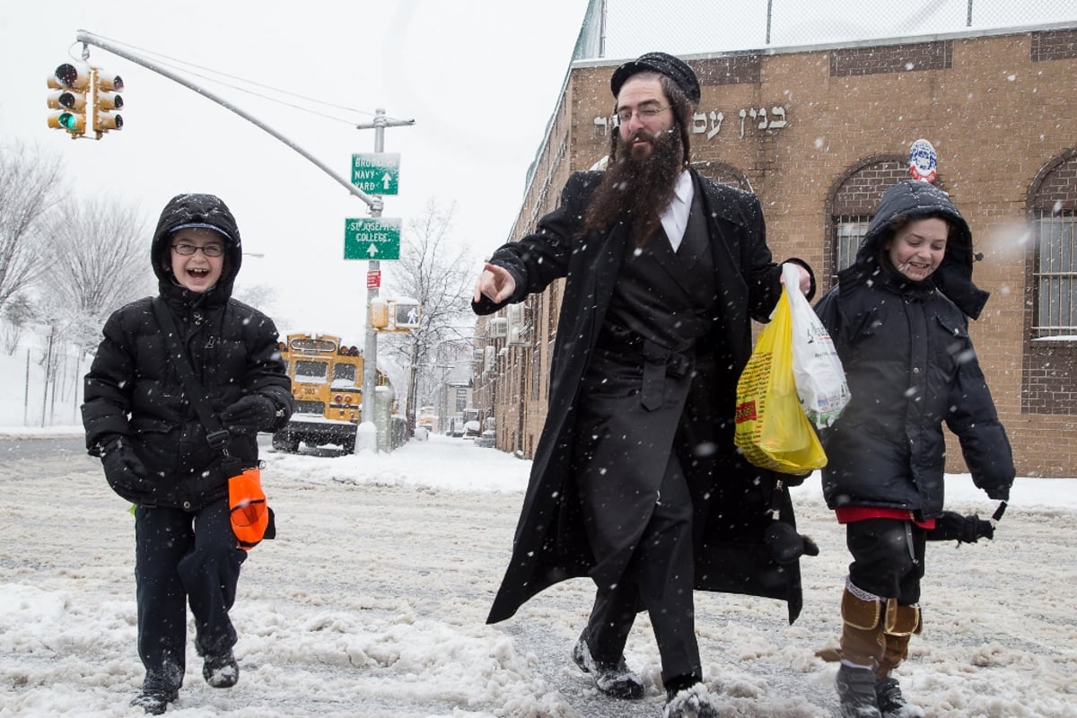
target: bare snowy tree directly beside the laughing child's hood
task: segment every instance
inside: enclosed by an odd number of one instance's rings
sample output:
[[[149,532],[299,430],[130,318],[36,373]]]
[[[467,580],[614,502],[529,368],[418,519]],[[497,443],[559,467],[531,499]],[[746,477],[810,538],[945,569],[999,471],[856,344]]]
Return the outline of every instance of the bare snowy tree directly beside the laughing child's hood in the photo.
[[[149,222],[134,206],[82,200],[57,207],[46,227],[48,319],[64,339],[90,349],[109,313],[153,286]]]

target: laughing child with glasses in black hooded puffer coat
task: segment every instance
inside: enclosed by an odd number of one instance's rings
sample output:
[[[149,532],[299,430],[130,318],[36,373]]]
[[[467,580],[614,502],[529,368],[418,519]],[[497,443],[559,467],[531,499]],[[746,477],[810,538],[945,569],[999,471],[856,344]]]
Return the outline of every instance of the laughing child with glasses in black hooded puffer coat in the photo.
[[[214,413],[227,451],[257,463],[257,432],[282,427],[291,384],[272,321],[233,299],[242,262],[239,229],[213,195],[179,195],[165,207],[150,251],[159,301]],[[117,309],[85,379],[86,448],[112,489],[135,504],[138,649],[145,666],[132,701],[159,715],[183,685],[186,605],[202,675],[234,686],[236,630],[228,618],[239,567],[228,510],[228,471],[213,449],[174,363],[151,297]]]

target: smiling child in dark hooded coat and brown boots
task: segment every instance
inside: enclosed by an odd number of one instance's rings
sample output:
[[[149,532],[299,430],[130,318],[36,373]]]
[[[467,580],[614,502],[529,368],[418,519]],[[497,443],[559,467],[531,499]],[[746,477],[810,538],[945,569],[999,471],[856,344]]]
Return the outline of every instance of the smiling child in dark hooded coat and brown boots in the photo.
[[[841,660],[842,716],[924,715],[891,672],[921,630],[925,541],[943,513],[942,424],[988,496],[1007,499],[1013,482],[1010,444],[968,336],[966,315],[979,316],[987,301],[971,274],[971,233],[949,196],[900,182],[815,307],[852,394],[823,432],[823,493],[853,557],[840,651],[820,653]]]

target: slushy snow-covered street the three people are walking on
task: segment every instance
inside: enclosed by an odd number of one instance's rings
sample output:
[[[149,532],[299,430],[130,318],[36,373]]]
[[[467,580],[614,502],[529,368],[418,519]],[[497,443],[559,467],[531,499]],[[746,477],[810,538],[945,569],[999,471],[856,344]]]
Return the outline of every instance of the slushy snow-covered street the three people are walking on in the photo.
[[[134,532],[96,460],[68,430],[0,438],[0,716],[137,716]],[[56,440],[64,451],[18,459]],[[330,453],[330,452],[321,452]],[[265,455],[279,537],[243,566],[233,617],[239,685],[211,689],[193,647],[176,716],[657,718],[658,654],[645,615],[627,650],[647,694],[615,702],[569,659],[592,588],[559,585],[485,623],[529,462],[433,436],[392,454]],[[990,513],[968,477],[951,507]],[[795,490],[822,555],[801,562],[805,610],[697,593],[707,681],[723,716],[833,715],[849,562],[817,477]],[[1077,480],[1019,479],[994,541],[928,550],[924,633],[900,668],[929,716],[1077,716]],[[193,635],[193,628],[188,633]]]

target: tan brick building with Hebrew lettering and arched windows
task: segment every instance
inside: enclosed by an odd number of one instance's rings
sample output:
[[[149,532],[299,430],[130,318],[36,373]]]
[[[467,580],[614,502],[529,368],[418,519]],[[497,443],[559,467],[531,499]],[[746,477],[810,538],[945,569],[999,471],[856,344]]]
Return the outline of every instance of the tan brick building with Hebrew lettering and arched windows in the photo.
[[[684,59],[702,84],[696,167],[759,196],[775,258],[811,263],[816,296],[884,189],[908,178],[910,145],[935,146],[936,184],[968,220],[974,278],[991,292],[970,333],[1018,474],[1077,477],[1077,25]],[[512,239],[605,155],[618,64],[572,65]],[[476,330],[475,406],[496,418],[499,448],[529,457],[559,302],[558,283],[507,330],[487,319]],[[948,470],[966,470],[956,442]]]

